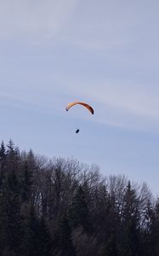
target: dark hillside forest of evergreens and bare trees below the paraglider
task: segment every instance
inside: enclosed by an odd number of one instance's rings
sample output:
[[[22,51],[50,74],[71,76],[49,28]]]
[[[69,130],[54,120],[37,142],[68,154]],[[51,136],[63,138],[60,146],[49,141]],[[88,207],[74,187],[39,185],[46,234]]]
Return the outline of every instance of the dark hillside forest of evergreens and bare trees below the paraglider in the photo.
[[[158,256],[159,201],[146,183],[2,142],[0,255]]]

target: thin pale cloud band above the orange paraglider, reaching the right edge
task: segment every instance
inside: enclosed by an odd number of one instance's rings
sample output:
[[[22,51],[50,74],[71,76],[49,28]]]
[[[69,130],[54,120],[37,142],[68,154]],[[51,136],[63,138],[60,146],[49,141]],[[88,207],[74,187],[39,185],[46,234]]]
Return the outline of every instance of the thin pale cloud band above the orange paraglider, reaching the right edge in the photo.
[[[123,113],[136,115],[143,118],[159,119],[159,92],[156,88],[150,90],[144,84],[138,84],[136,81],[127,79],[102,79],[97,81],[90,79],[89,84],[77,82],[76,78],[65,75],[64,81],[59,84],[63,90],[67,90],[76,97],[90,99],[90,101],[99,102],[105,108],[120,110]],[[68,83],[70,81],[70,83]],[[60,90],[60,88],[59,88]]]

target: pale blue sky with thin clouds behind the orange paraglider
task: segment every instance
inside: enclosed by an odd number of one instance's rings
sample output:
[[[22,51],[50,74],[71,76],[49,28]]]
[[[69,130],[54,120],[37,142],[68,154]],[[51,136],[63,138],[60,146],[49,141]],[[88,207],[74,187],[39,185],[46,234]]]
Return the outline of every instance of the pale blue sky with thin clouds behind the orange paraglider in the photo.
[[[158,13],[155,0],[0,0],[0,139],[159,195]],[[65,112],[76,100],[94,116]]]

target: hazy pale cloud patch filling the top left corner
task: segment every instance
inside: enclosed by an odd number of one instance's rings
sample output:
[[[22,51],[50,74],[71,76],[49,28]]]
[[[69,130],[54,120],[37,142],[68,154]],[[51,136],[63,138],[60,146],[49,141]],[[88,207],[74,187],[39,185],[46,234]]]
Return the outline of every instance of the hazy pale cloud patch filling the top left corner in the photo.
[[[0,1],[0,37],[52,39],[60,32],[78,0],[2,0]]]

